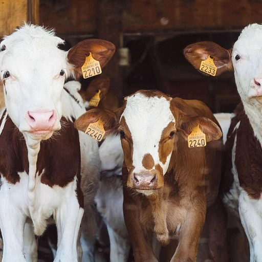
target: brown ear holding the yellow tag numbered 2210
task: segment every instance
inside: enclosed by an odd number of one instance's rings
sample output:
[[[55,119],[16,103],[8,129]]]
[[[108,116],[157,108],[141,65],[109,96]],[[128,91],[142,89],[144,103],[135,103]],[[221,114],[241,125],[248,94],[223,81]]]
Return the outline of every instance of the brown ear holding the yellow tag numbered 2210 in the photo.
[[[116,47],[112,42],[101,39],[86,39],[77,43],[68,51],[68,61],[75,67],[75,75],[81,75],[81,67],[85,57],[92,53],[92,57],[100,62],[101,68],[111,59]]]

